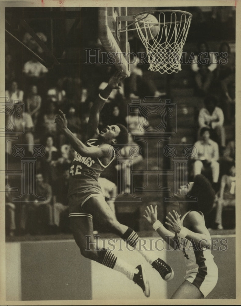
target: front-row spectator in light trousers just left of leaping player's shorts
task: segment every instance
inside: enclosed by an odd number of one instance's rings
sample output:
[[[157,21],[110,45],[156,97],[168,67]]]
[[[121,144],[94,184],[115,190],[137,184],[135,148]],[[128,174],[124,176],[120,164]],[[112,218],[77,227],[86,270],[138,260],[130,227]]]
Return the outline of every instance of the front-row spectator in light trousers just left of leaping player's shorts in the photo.
[[[68,210],[68,188],[69,188],[69,169],[64,170],[61,177],[57,178],[52,184],[53,190],[53,222],[57,231],[68,232],[69,229],[69,210]],[[62,221],[62,222],[61,222]]]

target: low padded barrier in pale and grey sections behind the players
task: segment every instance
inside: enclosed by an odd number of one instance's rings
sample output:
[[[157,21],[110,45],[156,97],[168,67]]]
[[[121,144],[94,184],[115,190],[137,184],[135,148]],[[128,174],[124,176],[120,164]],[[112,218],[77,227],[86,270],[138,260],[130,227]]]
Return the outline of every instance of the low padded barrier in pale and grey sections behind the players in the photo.
[[[235,237],[222,238],[227,239],[228,249],[225,252],[213,251],[219,278],[207,296],[210,299],[235,298]],[[159,249],[163,247],[159,237],[144,239],[152,239],[153,245],[156,243]],[[120,241],[106,239],[103,244],[130,264],[136,266],[145,262],[137,251],[128,250],[124,242],[120,244]],[[151,288],[149,299],[167,299],[182,283],[185,274],[183,254],[178,251],[156,253],[173,267],[175,277],[166,283],[145,262]],[[146,299],[141,289],[124,275],[81,256],[74,240],[6,243],[6,300],[123,298]]]

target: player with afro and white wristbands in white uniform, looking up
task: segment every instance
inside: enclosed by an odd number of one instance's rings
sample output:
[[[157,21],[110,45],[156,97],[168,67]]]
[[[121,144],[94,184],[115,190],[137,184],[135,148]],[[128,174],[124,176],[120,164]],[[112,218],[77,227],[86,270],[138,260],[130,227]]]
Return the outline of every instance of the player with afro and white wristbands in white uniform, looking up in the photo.
[[[185,201],[187,193],[197,197],[197,201]],[[214,289],[218,281],[218,267],[210,251],[211,237],[203,217],[213,207],[215,192],[207,178],[200,174],[196,175],[194,182],[181,186],[176,197],[180,200],[181,215],[173,210],[165,222],[172,231],[157,220],[156,207],[147,207],[144,217],[172,248],[181,249],[185,256],[185,280],[171,299],[201,299]]]

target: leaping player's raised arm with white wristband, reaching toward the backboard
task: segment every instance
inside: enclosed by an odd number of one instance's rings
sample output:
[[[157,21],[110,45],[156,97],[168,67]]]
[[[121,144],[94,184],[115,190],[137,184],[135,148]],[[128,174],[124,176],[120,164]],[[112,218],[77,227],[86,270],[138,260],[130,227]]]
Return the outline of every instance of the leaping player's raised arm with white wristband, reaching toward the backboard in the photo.
[[[122,70],[117,71],[110,77],[108,85],[106,88],[100,92],[99,96],[95,100],[93,106],[90,109],[90,116],[87,126],[87,136],[88,138],[96,137],[99,135],[98,125],[99,125],[99,114],[103,109],[106,101],[111,94],[113,89],[119,89],[118,84],[124,80],[126,76],[123,76]]]

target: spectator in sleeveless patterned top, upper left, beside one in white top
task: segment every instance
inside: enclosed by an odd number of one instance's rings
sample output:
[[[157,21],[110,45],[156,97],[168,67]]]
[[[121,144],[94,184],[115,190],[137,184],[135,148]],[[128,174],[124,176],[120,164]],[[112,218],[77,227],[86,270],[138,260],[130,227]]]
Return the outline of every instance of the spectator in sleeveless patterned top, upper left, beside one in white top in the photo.
[[[27,111],[31,115],[34,125],[36,125],[38,120],[41,101],[41,96],[38,95],[38,87],[36,85],[32,85],[30,93],[27,97]]]

